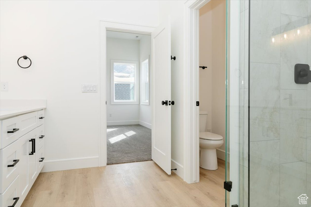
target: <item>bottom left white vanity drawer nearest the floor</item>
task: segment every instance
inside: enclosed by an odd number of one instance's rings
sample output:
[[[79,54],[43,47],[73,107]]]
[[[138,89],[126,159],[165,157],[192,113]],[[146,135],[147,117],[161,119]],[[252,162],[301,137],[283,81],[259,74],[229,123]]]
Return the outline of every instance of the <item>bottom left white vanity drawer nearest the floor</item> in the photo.
[[[18,187],[18,179],[15,178],[12,184],[4,191],[3,194],[0,194],[0,206],[20,206],[19,201],[19,187]]]

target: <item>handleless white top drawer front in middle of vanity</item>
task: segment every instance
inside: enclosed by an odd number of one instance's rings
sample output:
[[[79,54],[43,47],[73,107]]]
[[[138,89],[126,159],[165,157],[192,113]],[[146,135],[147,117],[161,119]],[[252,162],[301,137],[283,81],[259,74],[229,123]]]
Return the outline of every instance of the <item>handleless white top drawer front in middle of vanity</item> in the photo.
[[[20,115],[20,137],[38,126],[38,112]]]

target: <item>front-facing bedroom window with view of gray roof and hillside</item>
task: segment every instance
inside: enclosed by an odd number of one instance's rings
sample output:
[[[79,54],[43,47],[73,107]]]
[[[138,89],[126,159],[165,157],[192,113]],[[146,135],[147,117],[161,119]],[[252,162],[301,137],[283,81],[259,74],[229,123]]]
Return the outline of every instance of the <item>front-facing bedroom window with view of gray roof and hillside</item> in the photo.
[[[111,66],[111,104],[138,104],[138,63],[112,60]]]

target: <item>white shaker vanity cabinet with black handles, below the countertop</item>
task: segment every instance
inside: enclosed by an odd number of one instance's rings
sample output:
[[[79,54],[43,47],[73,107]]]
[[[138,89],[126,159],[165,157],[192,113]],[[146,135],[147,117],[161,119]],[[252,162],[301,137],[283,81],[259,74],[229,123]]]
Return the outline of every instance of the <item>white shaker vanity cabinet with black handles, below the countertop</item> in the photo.
[[[20,206],[44,166],[44,109],[0,120],[0,206]]]

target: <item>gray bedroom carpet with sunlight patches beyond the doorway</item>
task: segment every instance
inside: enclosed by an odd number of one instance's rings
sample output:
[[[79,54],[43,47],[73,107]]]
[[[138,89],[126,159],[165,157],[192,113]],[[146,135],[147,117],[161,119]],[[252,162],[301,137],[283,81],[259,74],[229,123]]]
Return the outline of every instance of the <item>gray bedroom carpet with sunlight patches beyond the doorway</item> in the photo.
[[[151,160],[151,129],[142,125],[107,126],[107,164]]]

